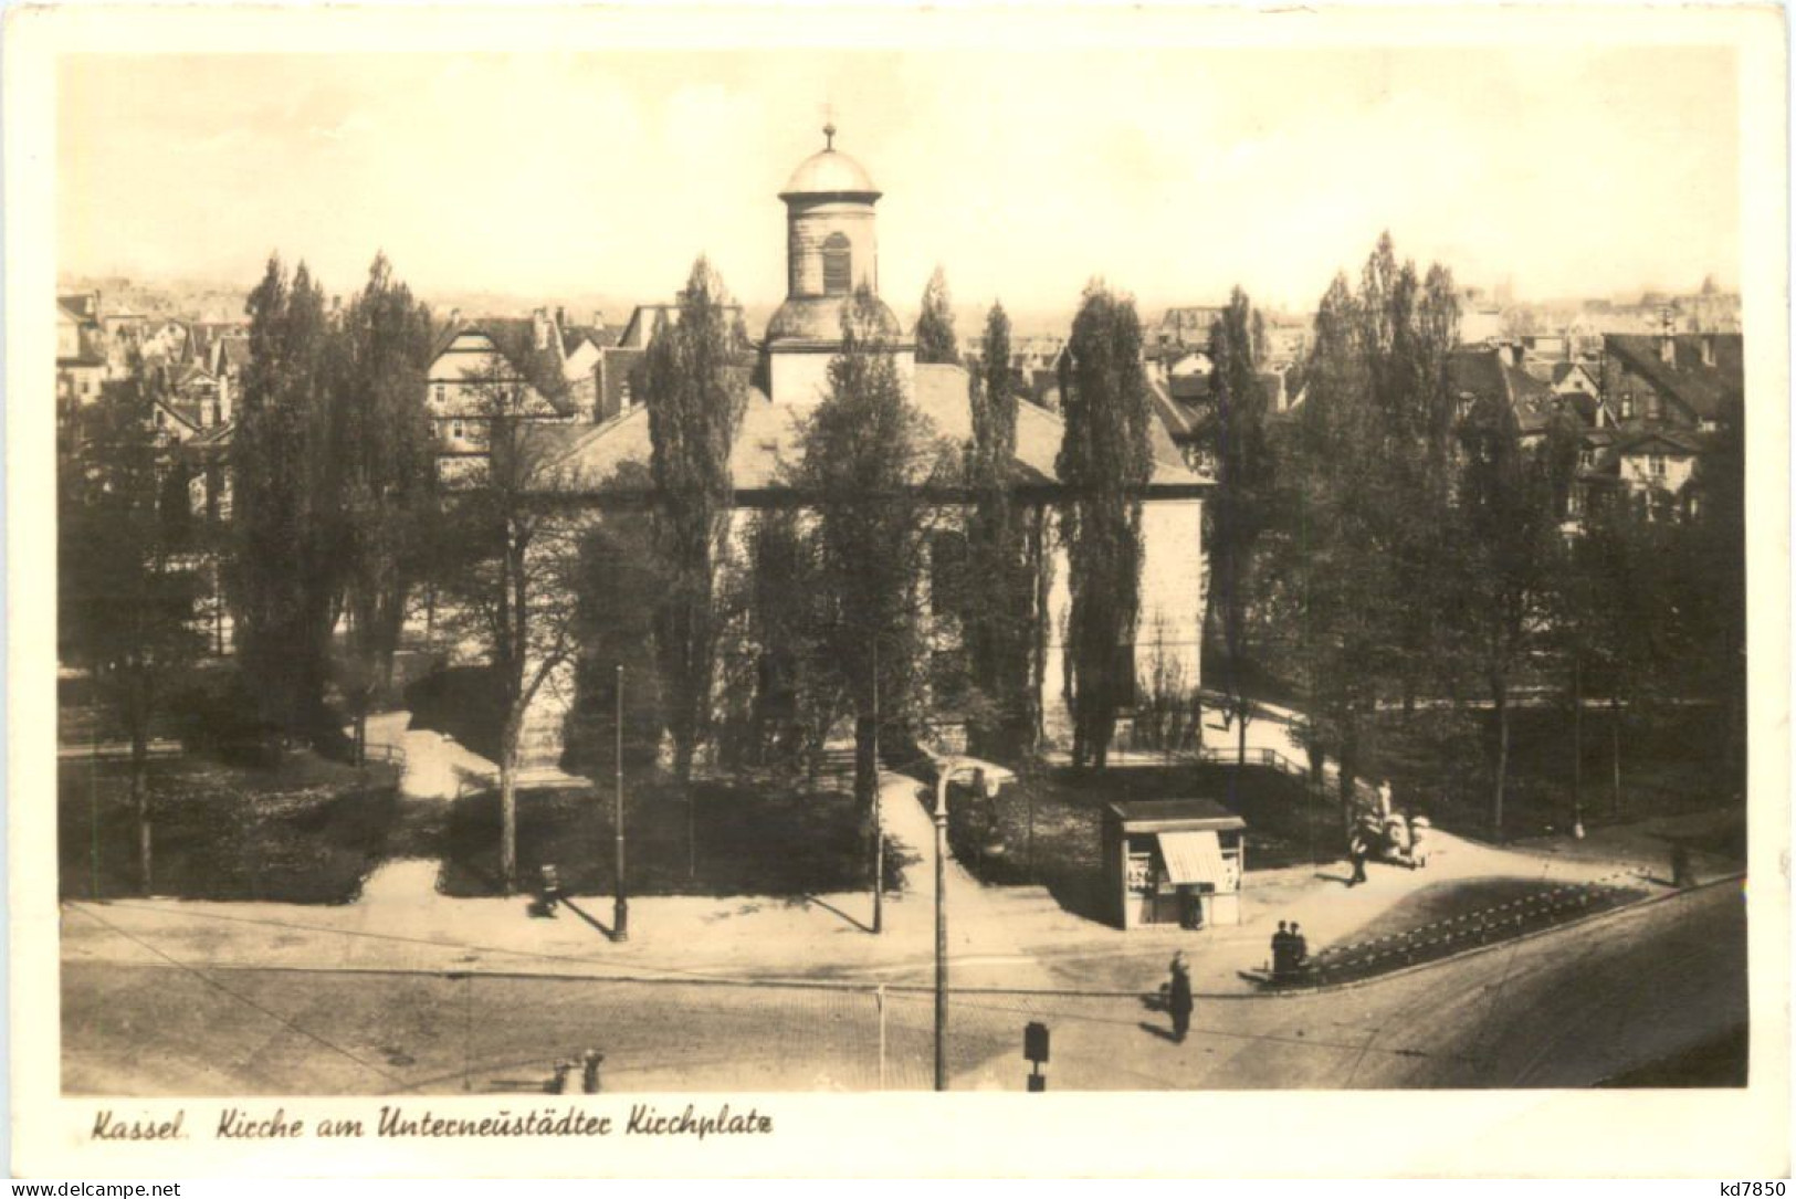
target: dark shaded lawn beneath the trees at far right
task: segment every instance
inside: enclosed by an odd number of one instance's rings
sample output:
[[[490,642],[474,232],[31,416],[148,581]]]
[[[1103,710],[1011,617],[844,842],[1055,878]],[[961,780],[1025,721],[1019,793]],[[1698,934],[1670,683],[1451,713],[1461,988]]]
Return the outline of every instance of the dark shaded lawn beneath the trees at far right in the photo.
[[[1417,806],[1435,824],[1469,836],[1489,836],[1491,790],[1496,777],[1496,718],[1475,711],[1471,727],[1451,713],[1417,713],[1376,720],[1361,777],[1388,777],[1399,806]],[[1686,707],[1656,718],[1624,716],[1622,802],[1613,797],[1611,722],[1607,711],[1584,713],[1584,824],[1679,815],[1735,804],[1726,763],[1717,761],[1721,713]],[[1510,714],[1509,786],[1503,833],[1534,836],[1572,826],[1572,714],[1528,707]]]

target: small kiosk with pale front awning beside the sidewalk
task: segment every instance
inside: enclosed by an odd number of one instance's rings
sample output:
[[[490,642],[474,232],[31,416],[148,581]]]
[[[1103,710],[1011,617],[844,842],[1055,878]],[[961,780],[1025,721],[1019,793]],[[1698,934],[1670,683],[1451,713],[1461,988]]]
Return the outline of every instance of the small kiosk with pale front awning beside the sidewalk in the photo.
[[[1105,806],[1105,892],[1119,928],[1241,923],[1246,820],[1209,799]]]

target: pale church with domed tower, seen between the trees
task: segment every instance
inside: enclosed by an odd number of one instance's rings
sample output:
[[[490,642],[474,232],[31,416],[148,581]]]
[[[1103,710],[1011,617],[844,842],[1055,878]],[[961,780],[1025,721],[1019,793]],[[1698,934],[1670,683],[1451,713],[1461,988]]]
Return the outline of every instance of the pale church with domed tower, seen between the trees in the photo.
[[[785,472],[801,454],[805,420],[828,391],[828,366],[842,346],[842,311],[866,285],[878,296],[878,226],[875,206],[880,190],[867,171],[835,147],[835,129],[824,127],[824,147],[792,172],[779,199],[787,226],[787,294],[758,346],[760,386],[749,388],[742,425],[731,451],[736,497],[736,529],[745,531],[756,510],[788,504],[794,495]],[[891,348],[907,398],[950,445],[972,440],[968,373],[961,366],[918,364],[912,334],[889,305],[878,302],[882,339]],[[1063,425],[1056,415],[1017,398],[1018,499],[1040,510],[1047,528],[1049,628],[1042,670],[1042,713],[1051,743],[1070,736],[1065,696],[1063,635],[1070,608],[1067,555],[1054,529],[1060,515],[1060,479],[1054,459]],[[1200,682],[1203,628],[1203,497],[1212,483],[1193,472],[1167,438],[1160,422],[1155,436],[1153,477],[1142,504],[1140,617],[1133,659],[1139,693],[1146,698],[1155,678],[1176,680],[1180,689]],[[594,508],[620,503],[614,479],[620,468],[650,461],[648,411],[636,404],[600,424],[555,429],[564,438],[551,463],[557,492],[580,497]],[[638,474],[636,477],[647,477]],[[621,497],[625,503],[641,497]],[[945,510],[943,524],[959,522]],[[736,538],[740,544],[740,537]],[[1126,652],[1128,646],[1122,646]],[[553,748],[553,729],[573,702],[571,686],[544,687],[542,711],[533,711],[526,745],[542,761]]]

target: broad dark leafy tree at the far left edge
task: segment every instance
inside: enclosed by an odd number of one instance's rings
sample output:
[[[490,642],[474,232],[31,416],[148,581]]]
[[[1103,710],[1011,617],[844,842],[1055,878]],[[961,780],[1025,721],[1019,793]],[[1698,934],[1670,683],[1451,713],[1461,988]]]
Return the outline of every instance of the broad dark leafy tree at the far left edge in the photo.
[[[81,456],[59,472],[57,619],[65,653],[86,668],[95,700],[131,743],[138,874],[153,885],[149,734],[180,677],[205,646],[198,564],[178,544],[165,501],[171,454],[151,425],[151,384],[135,364],[106,382],[83,422]],[[95,729],[95,740],[101,729]]]

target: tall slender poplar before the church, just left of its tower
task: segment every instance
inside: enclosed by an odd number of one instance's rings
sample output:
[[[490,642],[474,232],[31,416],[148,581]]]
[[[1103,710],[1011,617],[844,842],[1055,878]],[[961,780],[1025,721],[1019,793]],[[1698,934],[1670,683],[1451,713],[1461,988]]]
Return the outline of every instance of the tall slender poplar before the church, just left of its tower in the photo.
[[[647,355],[656,544],[668,565],[656,605],[656,648],[674,738],[674,774],[686,790],[686,865],[697,869],[691,761],[711,725],[718,646],[718,567],[729,537],[729,451],[747,402],[735,361],[724,284],[699,258],[679,296],[679,319]]]

